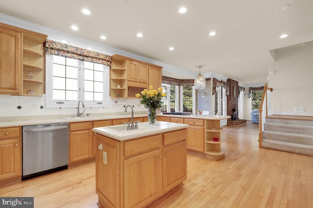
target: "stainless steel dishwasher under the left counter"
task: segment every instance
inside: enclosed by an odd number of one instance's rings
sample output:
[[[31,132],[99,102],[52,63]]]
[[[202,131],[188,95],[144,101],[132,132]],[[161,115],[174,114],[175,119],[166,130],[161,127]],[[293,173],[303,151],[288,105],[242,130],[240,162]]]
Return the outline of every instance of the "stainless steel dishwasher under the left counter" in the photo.
[[[68,124],[22,126],[22,180],[67,169]]]

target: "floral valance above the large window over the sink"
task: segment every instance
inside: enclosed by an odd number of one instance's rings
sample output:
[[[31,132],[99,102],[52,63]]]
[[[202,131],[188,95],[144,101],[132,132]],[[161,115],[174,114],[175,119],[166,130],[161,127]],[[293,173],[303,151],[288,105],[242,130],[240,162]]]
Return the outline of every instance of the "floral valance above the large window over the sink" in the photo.
[[[109,55],[51,40],[46,40],[45,42],[45,53],[86,62],[100,63],[108,66],[111,65],[111,56]]]

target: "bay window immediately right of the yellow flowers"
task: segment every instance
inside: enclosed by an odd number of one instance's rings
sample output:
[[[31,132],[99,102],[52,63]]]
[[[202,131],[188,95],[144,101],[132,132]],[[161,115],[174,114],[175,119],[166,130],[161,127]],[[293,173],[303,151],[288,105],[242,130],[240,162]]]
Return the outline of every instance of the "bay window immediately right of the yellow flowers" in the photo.
[[[178,86],[164,84],[162,83],[162,87],[166,93],[166,96],[162,98],[164,104],[161,107],[161,112],[178,112]]]

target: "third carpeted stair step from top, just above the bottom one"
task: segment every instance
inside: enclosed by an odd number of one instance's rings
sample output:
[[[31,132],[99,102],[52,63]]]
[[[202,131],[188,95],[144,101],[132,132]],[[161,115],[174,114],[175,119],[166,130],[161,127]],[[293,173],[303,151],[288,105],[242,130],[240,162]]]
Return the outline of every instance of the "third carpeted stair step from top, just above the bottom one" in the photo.
[[[267,140],[276,140],[281,142],[302,144],[302,145],[311,145],[313,146],[313,136],[311,135],[302,135],[302,134],[293,134],[285,132],[276,132],[276,131],[263,131],[262,139]]]

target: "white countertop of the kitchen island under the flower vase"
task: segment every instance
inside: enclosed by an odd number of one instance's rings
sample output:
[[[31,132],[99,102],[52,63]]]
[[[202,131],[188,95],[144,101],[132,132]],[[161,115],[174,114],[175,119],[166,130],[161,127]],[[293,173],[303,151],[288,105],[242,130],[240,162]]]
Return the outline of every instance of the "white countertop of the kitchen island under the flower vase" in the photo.
[[[125,126],[127,125],[119,125]],[[97,127],[93,128],[92,130],[98,134],[110,137],[112,139],[118,141],[125,141],[129,139],[134,139],[138,137],[150,136],[154,134],[159,134],[167,131],[174,131],[188,127],[187,124],[177,124],[177,123],[170,123],[170,122],[160,122],[156,121],[155,125],[149,125],[149,122],[138,123],[138,129],[134,130],[124,130],[124,131],[114,131],[109,130],[108,126],[106,127]]]

